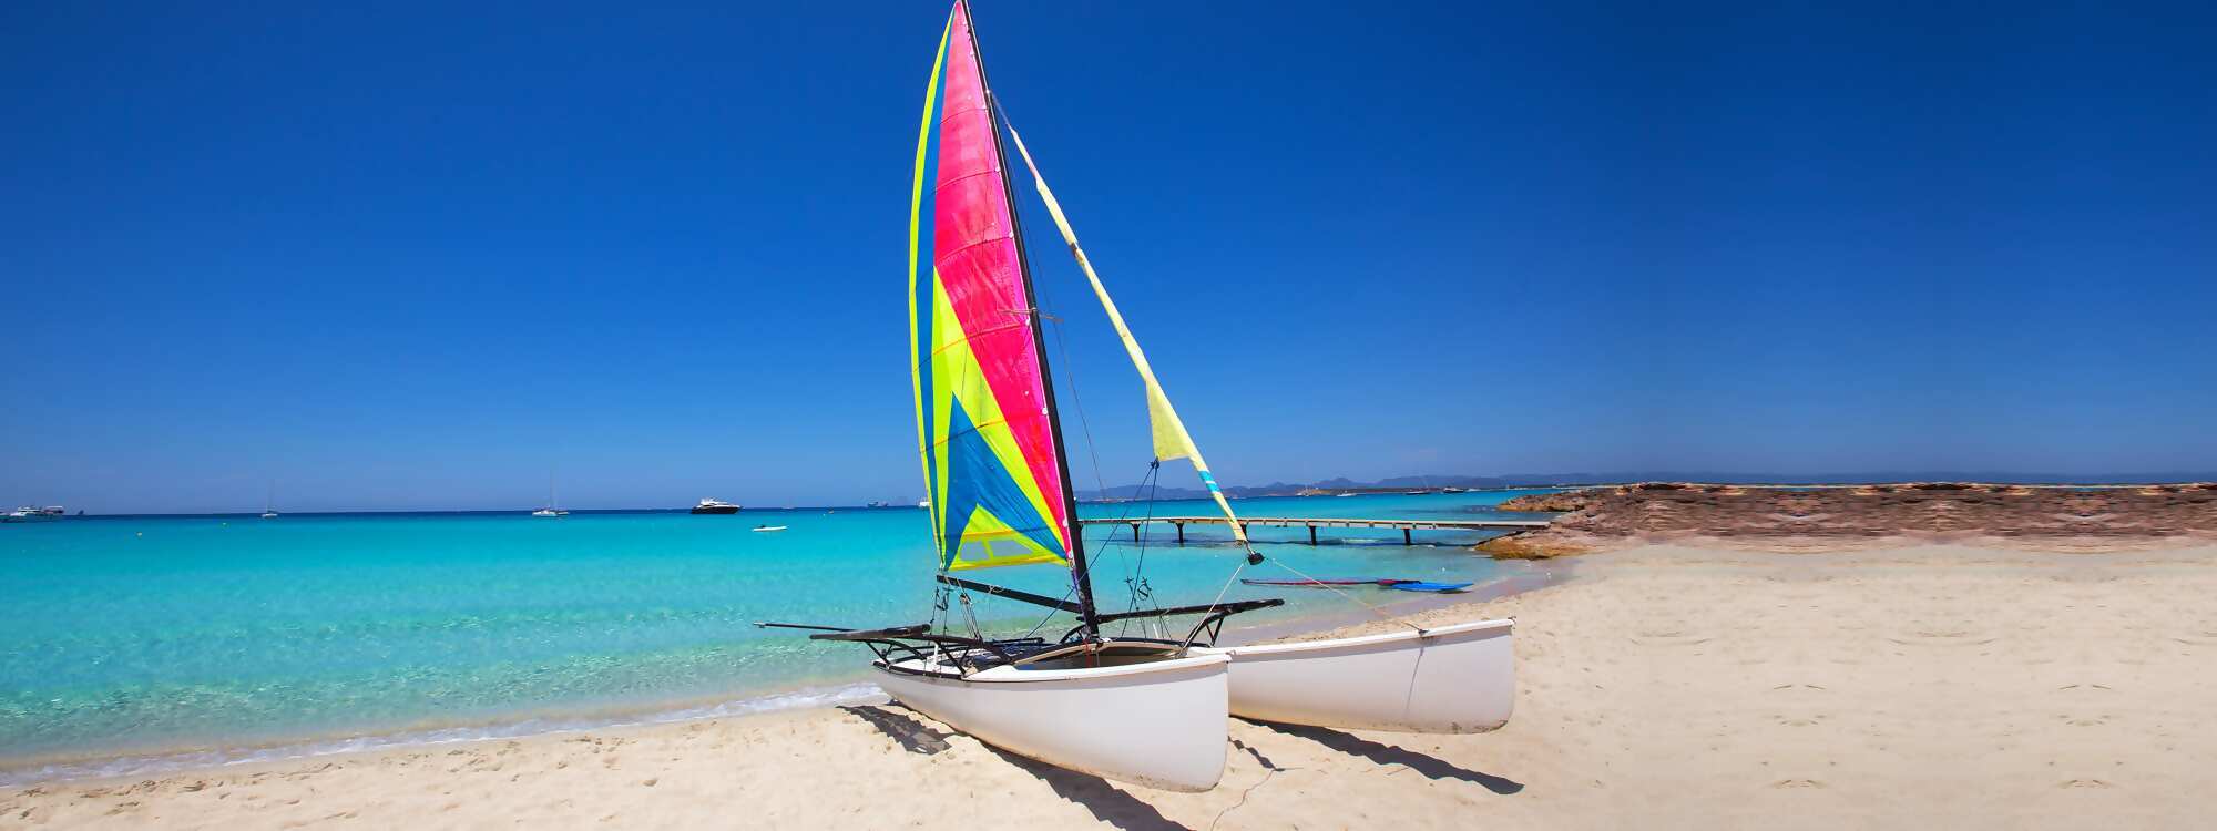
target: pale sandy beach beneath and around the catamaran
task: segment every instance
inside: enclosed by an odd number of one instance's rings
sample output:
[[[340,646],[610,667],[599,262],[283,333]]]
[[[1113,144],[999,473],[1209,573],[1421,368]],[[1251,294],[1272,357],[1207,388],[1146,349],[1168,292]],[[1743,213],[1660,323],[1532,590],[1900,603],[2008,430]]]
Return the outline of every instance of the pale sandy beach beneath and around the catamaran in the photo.
[[[0,827],[2197,827],[2217,550],[1652,545],[1430,620],[1514,616],[1488,736],[1235,720],[1166,793],[898,707],[0,791]],[[858,656],[860,658],[860,656]]]

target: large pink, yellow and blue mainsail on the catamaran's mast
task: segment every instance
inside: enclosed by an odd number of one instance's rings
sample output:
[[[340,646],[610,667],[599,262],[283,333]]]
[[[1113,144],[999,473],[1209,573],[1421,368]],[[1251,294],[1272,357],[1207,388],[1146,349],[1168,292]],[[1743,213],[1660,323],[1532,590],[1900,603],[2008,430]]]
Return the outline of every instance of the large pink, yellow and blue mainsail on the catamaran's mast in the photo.
[[[944,570],[1069,563],[1071,552],[1069,483],[998,140],[958,2],[924,86],[909,211],[916,432]]]

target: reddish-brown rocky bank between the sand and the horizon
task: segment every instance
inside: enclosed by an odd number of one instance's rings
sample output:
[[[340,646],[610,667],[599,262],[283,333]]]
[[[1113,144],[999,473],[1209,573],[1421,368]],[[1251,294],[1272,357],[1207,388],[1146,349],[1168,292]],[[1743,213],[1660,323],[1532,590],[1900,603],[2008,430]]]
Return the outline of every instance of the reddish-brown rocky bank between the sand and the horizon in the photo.
[[[1658,541],[1831,552],[1904,541],[2111,552],[2217,541],[2217,483],[2049,488],[1900,483],[1760,488],[1636,483],[1516,496],[1561,512],[1536,532],[1479,543],[1494,558],[1552,558]]]

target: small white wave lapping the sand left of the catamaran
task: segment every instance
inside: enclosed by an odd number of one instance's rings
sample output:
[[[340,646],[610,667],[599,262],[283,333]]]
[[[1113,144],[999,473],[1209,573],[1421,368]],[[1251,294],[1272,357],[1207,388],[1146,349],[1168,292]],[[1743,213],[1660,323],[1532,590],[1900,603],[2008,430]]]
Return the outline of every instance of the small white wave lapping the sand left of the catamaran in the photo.
[[[160,776],[188,769],[211,769],[211,767],[231,767],[251,762],[282,762],[293,758],[359,753],[359,751],[379,751],[399,747],[481,742],[492,738],[528,738],[528,736],[574,733],[574,731],[610,729],[610,727],[687,722],[703,718],[734,718],[734,716],[772,714],[785,709],[862,705],[873,700],[885,700],[885,691],[878,689],[878,685],[858,683],[842,687],[798,689],[776,696],[734,698],[712,705],[612,714],[599,718],[525,718],[514,722],[494,722],[477,727],[441,727],[441,729],[348,736],[333,740],[288,742],[288,745],[266,745],[266,747],[224,747],[224,749],[197,749],[197,751],[175,751],[175,753],[135,753],[135,756],[113,756],[113,758],[67,760],[67,762],[40,762],[40,765],[0,767],[0,789],[64,782],[64,780]]]

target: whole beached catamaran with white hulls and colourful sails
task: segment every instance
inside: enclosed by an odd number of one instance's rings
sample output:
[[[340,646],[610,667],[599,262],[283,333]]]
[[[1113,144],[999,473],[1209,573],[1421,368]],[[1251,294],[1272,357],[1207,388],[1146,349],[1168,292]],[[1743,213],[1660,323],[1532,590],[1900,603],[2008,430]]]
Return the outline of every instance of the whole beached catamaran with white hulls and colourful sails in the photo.
[[[1022,155],[1144,381],[1151,470],[1173,459],[1193,463],[1242,550],[1226,587],[1239,570],[1264,563],[995,102],[969,4],[958,0],[924,91],[909,211],[909,357],[927,485],[920,505],[929,507],[938,547],[936,612],[927,623],[882,629],[760,625],[869,647],[887,694],[989,745],[1175,791],[1217,784],[1230,714],[1439,733],[1501,727],[1514,694],[1510,620],[1213,647],[1228,616],[1284,601],[1226,603],[1219,594],[1206,605],[1159,607],[1135,594],[1131,609],[1102,612],[1077,523],[1009,146]],[[951,574],[1011,565],[1066,567],[1071,589],[1053,598]],[[991,638],[969,614],[973,594],[1071,614],[1075,625],[1060,638]],[[1171,618],[1197,623],[1173,629]],[[1122,623],[1120,632],[1111,634],[1111,623]]]

